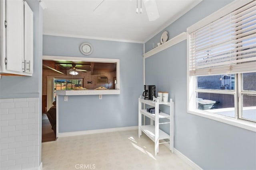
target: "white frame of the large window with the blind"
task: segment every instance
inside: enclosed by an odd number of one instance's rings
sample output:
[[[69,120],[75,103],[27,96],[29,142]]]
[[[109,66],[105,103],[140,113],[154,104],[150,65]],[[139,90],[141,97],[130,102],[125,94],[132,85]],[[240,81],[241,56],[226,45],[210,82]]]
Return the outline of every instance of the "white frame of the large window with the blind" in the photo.
[[[194,25],[188,27],[187,29],[187,113],[198,115],[201,117],[205,117],[208,119],[212,119],[215,121],[219,121],[222,123],[226,123],[229,125],[234,125],[236,127],[241,127],[244,129],[248,129],[250,131],[256,132],[256,123],[247,121],[242,118],[242,94],[245,93],[253,93],[256,94],[256,92],[245,92],[242,90],[242,73],[236,73],[235,78],[235,90],[233,92],[227,92],[225,91],[218,91],[218,90],[200,90],[203,92],[210,92],[210,93],[224,93],[224,94],[234,94],[234,107],[236,111],[236,118],[233,117],[227,117],[224,115],[219,115],[216,113],[209,113],[207,111],[196,109],[196,76],[190,76],[190,33],[194,30],[204,27],[205,25],[208,25],[212,21],[218,20],[222,16],[225,16],[226,14],[232,12],[233,10],[236,10],[237,8],[240,8],[241,6],[244,6],[249,1],[239,1],[234,0],[234,2],[231,2],[227,6],[221,8],[220,10],[214,12],[210,16],[207,16],[203,20],[199,21],[198,23],[195,23]],[[256,70],[255,70],[256,71]],[[198,90],[197,90],[198,92]]]

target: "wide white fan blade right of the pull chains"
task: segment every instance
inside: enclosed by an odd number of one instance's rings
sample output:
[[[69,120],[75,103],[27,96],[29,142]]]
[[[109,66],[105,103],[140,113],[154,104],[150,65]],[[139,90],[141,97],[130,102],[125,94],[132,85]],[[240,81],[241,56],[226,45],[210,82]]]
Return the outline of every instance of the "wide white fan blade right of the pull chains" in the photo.
[[[143,0],[146,12],[148,14],[148,20],[154,21],[159,18],[159,12],[156,5],[156,0]]]

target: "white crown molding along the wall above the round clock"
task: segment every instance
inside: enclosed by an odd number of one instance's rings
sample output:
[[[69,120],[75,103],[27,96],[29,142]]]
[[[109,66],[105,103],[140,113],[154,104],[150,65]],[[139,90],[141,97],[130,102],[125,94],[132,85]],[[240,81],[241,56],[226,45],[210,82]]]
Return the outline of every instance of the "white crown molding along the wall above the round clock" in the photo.
[[[58,37],[84,38],[84,39],[96,39],[96,40],[104,40],[104,41],[119,41],[119,42],[125,42],[125,43],[140,43],[140,44],[144,43],[144,41],[134,41],[134,40],[129,40],[129,39],[114,39],[114,38],[92,37],[92,36],[84,36],[84,35],[71,35],[71,34],[50,33],[50,32],[44,32],[43,35],[52,35],[52,36],[58,36]]]

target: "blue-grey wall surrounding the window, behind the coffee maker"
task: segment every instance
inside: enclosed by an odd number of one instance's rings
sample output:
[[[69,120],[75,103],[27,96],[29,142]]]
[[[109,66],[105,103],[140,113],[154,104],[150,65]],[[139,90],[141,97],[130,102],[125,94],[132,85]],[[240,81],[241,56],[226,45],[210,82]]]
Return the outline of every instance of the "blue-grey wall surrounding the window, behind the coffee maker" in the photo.
[[[230,2],[204,0],[164,30],[172,38]],[[145,43],[145,51],[163,31]],[[186,62],[186,41],[145,60],[146,84],[156,84],[157,91],[169,92],[174,100],[174,147],[206,170],[255,170],[255,132],[186,112]]]

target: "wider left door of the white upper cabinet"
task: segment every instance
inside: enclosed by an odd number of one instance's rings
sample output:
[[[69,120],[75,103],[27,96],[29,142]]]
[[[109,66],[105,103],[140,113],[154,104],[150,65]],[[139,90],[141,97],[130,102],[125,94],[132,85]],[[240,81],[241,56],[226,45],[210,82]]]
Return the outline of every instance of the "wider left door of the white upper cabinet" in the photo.
[[[6,70],[22,72],[24,59],[24,4],[6,0]]]

